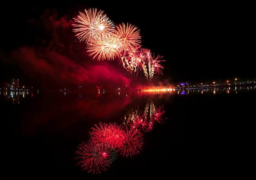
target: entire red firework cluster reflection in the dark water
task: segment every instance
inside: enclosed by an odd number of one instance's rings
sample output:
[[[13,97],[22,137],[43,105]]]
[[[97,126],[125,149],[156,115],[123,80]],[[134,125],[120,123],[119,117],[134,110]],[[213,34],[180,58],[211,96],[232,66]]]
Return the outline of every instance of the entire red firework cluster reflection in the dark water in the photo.
[[[91,127],[88,142],[82,142],[75,152],[75,159],[82,170],[99,174],[107,171],[118,156],[132,158],[141,153],[144,133],[152,131],[156,123],[166,119],[163,106],[155,107],[148,101],[143,112],[131,110],[124,116],[123,123],[99,123]]]

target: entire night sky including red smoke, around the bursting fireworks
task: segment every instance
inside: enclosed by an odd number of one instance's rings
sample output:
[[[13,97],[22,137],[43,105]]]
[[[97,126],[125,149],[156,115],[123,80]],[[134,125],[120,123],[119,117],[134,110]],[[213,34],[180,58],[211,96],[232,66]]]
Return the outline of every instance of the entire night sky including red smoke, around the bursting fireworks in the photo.
[[[73,18],[90,8],[104,11],[115,25],[128,22],[140,30],[142,47],[165,60],[157,81],[254,79],[252,5],[232,3],[7,2],[1,10],[0,81],[38,86],[135,81],[118,60],[92,60],[75,37]]]

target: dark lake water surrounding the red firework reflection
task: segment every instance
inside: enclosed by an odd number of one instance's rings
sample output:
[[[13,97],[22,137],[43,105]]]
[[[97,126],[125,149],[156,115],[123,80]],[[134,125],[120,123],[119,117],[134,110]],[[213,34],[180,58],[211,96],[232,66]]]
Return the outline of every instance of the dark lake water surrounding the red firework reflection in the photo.
[[[232,179],[254,172],[254,86],[170,92],[1,92],[1,180]],[[144,134],[141,154],[101,174],[74,152],[99,122],[121,123],[147,103],[164,123]]]

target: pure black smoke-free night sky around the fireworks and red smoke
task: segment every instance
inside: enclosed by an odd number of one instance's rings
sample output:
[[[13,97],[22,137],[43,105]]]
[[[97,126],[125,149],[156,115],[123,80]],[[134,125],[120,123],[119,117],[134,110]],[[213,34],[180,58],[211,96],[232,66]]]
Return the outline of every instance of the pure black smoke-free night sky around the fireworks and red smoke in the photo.
[[[10,2],[8,2],[10,3]],[[240,2],[239,2],[240,3]],[[50,24],[42,24],[45,9],[67,22],[80,11],[89,8],[101,9],[115,24],[129,22],[141,33],[141,44],[155,55],[162,55],[164,71],[162,79],[168,81],[202,81],[232,78],[256,77],[254,70],[255,42],[254,11],[252,4],[168,2],[138,3],[69,1],[52,4],[43,1],[38,4],[10,3],[2,14],[2,42],[0,45],[1,81],[7,81],[17,72],[19,62],[9,61],[10,50],[20,46],[42,46],[40,39],[51,41]],[[41,24],[40,24],[41,23]],[[33,28],[31,28],[33,24]],[[65,32],[64,45],[73,44],[72,32]],[[64,31],[61,31],[63,33]],[[47,39],[48,38],[48,39]],[[56,43],[56,41],[55,41]],[[66,43],[66,44],[65,44]],[[58,42],[57,42],[58,44]],[[65,48],[53,48],[65,55]],[[79,55],[83,48],[77,49]],[[4,55],[3,55],[4,54]],[[84,59],[87,57],[84,55]],[[7,60],[8,59],[8,60]],[[70,57],[72,60],[72,57]],[[83,66],[84,62],[73,59]],[[13,68],[15,64],[15,68]],[[24,70],[23,70],[24,71]],[[11,72],[11,73],[10,73]],[[33,79],[26,74],[26,78]]]

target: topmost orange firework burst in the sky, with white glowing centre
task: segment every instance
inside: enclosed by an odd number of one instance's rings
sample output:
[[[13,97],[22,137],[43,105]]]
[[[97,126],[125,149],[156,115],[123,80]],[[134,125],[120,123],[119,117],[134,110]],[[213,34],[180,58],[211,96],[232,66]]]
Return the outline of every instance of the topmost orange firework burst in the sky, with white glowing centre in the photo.
[[[103,11],[97,9],[85,9],[85,13],[79,12],[77,19],[73,19],[78,23],[73,24],[76,37],[86,43],[92,43],[100,36],[108,36],[115,29],[115,24]]]

